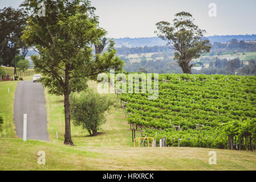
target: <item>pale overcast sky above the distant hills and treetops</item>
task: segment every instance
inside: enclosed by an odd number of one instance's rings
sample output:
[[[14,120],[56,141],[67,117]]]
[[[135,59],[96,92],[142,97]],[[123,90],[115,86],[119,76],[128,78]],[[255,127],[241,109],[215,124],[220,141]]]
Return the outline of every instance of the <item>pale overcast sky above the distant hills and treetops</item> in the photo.
[[[23,0],[0,0],[0,8],[18,7]],[[155,24],[172,22],[174,14],[188,11],[210,35],[256,34],[256,0],[92,0],[100,26],[109,38],[156,36]],[[209,16],[209,4],[217,16]],[[46,7],[47,11],[47,7]]]

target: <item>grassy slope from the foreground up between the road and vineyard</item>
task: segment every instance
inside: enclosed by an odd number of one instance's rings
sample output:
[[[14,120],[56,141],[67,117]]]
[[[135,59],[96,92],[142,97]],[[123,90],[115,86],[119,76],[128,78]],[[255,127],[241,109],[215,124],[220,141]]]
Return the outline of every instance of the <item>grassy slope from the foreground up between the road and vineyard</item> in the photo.
[[[95,87],[93,83],[90,85]],[[51,141],[22,142],[22,139],[1,138],[0,170],[256,170],[256,152],[185,147],[133,148],[131,130],[121,108],[113,108],[107,114],[107,123],[96,137],[88,137],[87,131],[72,126],[76,147],[65,146],[63,97],[46,93],[46,100]],[[59,139],[56,139],[56,131]],[[40,150],[46,152],[46,165],[37,163],[36,154]],[[212,150],[217,152],[217,165],[208,164],[208,154]]]

